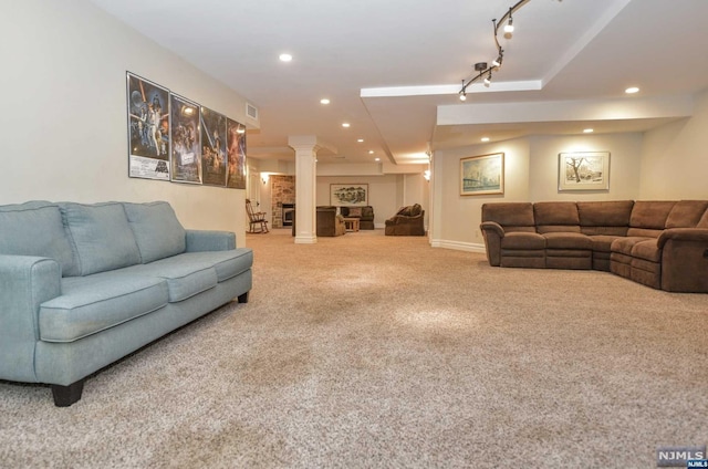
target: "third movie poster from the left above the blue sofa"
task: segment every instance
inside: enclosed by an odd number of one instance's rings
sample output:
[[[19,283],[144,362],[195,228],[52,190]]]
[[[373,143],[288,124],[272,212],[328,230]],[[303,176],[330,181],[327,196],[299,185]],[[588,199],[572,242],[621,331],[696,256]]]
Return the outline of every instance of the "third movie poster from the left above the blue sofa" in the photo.
[[[226,186],[226,117],[201,106],[202,184]]]

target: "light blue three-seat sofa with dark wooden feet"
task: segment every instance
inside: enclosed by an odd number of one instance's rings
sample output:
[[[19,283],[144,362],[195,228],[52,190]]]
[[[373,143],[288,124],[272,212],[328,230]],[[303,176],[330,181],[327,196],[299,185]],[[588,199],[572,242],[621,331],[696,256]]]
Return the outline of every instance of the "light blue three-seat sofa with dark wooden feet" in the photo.
[[[81,399],[87,376],[238,298],[253,253],[164,201],[0,206],[0,379]]]

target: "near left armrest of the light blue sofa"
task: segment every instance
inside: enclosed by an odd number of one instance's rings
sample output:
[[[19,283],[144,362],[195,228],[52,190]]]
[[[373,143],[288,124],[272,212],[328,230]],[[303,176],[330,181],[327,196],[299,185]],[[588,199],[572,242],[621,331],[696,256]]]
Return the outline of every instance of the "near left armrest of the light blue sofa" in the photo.
[[[0,378],[37,382],[40,305],[61,294],[62,271],[49,258],[0,254]]]

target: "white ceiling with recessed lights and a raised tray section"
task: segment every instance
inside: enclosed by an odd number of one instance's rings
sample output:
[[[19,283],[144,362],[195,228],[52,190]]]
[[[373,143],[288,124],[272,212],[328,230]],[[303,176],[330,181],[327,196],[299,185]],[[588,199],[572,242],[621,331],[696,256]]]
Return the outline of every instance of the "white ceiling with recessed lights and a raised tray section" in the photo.
[[[292,159],[292,135],[336,148],[323,161],[406,164],[482,136],[644,132],[708,87],[706,0],[529,0],[491,86],[465,103],[472,64],[497,56],[491,20],[516,0],[91,1],[256,105],[254,158]]]

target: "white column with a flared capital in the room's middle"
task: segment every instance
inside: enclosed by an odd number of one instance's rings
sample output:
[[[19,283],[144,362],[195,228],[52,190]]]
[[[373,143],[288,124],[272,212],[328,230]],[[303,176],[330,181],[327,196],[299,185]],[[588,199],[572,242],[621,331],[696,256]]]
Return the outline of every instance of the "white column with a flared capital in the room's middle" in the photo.
[[[290,136],[288,145],[295,150],[295,244],[314,244],[317,242],[317,150],[332,147],[314,135]]]

